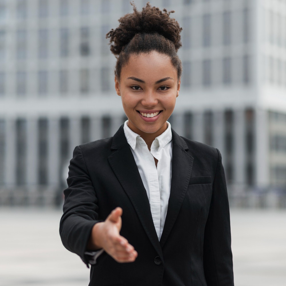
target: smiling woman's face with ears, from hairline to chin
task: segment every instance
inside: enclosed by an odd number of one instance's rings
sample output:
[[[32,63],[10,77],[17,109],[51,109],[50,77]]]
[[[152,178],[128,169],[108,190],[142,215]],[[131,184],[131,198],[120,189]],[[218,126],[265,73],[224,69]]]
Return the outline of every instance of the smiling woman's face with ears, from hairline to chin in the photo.
[[[152,51],[130,55],[115,78],[116,92],[122,99],[130,123],[145,133],[157,132],[171,116],[179,95],[177,70],[168,55]]]

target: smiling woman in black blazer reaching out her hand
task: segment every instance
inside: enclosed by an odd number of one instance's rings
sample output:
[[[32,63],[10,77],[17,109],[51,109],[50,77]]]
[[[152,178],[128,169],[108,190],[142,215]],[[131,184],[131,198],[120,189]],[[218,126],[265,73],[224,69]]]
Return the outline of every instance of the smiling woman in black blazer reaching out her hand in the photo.
[[[119,22],[107,37],[128,120],[114,137],[75,148],[63,245],[92,265],[90,285],[233,285],[221,154],[167,122],[182,28],[149,4]]]

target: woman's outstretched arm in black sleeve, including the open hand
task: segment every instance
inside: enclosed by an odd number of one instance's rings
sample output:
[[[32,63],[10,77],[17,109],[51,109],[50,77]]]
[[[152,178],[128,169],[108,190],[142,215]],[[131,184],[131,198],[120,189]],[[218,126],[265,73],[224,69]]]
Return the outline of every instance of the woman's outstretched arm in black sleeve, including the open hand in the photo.
[[[98,220],[96,193],[79,146],[75,148],[70,161],[67,184],[68,188],[64,190],[65,202],[59,228],[61,241],[65,248],[78,254],[87,265],[89,260],[85,254],[87,249],[103,248],[119,262],[129,262],[130,259],[134,261],[137,257],[136,251],[125,238],[119,235],[121,208],[113,211],[105,222]],[[116,215],[120,223],[116,221]],[[120,228],[118,228],[119,225]],[[118,247],[118,241],[121,243],[120,247]],[[126,255],[123,256],[124,250],[125,254],[129,255],[128,259]]]

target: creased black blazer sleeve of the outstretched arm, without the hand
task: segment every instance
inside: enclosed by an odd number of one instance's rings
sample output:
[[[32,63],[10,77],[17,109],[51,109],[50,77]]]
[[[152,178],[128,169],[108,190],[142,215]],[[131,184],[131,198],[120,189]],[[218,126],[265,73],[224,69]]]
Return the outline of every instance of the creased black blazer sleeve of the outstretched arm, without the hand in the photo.
[[[85,254],[92,227],[99,222],[98,206],[82,150],[74,149],[67,178],[68,188],[64,190],[63,216],[59,225],[61,241],[66,249],[78,254],[88,266]]]

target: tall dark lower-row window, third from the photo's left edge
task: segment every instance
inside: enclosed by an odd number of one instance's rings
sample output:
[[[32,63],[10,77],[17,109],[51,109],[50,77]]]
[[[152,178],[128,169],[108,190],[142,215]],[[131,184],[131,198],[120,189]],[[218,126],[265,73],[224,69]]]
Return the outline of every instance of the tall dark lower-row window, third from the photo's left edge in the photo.
[[[48,183],[48,120],[38,120],[38,183]]]

